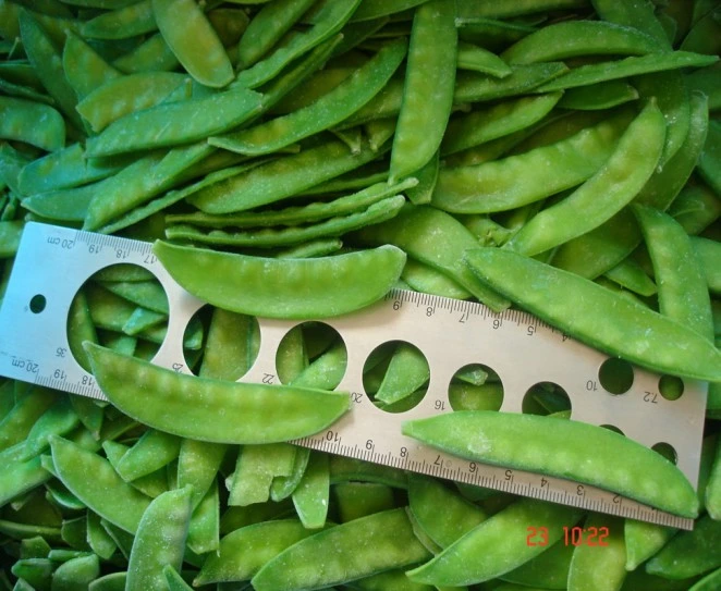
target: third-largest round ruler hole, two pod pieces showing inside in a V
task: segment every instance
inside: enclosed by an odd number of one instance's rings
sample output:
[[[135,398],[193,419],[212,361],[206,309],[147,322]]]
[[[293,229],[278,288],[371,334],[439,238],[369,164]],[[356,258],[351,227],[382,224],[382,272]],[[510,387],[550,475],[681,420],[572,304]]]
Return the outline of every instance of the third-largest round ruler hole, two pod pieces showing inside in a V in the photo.
[[[276,371],[284,384],[333,390],[347,368],[347,349],[339,332],[325,322],[293,327],[276,352]]]

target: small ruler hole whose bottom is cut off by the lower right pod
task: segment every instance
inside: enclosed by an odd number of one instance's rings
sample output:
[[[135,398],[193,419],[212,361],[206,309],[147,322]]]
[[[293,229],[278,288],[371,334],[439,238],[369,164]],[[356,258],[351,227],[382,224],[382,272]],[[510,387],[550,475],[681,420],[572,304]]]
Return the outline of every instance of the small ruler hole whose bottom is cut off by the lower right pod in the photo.
[[[453,374],[448,399],[453,410],[499,410],[503,404],[503,382],[488,366],[469,364]]]

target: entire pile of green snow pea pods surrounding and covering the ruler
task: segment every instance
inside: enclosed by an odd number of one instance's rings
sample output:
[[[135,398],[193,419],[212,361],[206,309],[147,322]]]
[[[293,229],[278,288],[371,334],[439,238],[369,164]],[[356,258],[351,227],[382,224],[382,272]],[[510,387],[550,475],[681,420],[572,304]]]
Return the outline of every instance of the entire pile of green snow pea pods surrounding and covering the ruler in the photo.
[[[212,306],[195,375],[162,370],[162,290],[106,269],[68,328],[112,404],[0,378],[0,591],[721,589],[719,39],[719,0],[0,0],[0,297],[41,221],[154,241]],[[498,413],[488,368],[404,426],[694,531],[288,443],[347,410],[346,352],[304,324],[282,385],[236,383],[253,316],[393,286],[709,382],[697,490],[552,389]],[[378,407],[417,403],[421,357],[374,357]]]

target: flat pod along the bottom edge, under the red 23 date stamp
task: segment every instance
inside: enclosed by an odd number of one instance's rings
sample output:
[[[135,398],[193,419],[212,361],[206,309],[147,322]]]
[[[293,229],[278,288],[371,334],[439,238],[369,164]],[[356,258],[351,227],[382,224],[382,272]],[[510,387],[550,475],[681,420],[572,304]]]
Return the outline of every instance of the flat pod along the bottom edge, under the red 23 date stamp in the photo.
[[[526,544],[528,524],[548,528],[549,543],[553,543],[563,535],[563,526],[573,526],[581,515],[575,507],[521,498],[407,575],[416,582],[451,587],[493,579],[545,550]],[[478,559],[479,556],[484,559]]]

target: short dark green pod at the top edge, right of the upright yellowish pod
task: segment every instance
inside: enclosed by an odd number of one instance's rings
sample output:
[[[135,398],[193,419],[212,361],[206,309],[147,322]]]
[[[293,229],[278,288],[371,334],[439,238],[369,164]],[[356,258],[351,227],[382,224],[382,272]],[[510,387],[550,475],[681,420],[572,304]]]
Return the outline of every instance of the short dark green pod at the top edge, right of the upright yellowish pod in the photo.
[[[276,0],[261,8],[241,37],[239,65],[245,69],[260,60],[313,3],[313,0]]]

